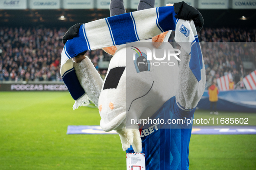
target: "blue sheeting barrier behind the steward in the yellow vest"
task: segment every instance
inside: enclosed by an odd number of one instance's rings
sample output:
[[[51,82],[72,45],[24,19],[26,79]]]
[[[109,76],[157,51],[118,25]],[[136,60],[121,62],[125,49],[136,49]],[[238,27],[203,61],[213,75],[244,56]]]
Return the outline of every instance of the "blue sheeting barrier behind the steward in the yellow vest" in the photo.
[[[220,91],[217,110],[256,113],[256,90]],[[199,109],[210,110],[208,90],[197,106]]]

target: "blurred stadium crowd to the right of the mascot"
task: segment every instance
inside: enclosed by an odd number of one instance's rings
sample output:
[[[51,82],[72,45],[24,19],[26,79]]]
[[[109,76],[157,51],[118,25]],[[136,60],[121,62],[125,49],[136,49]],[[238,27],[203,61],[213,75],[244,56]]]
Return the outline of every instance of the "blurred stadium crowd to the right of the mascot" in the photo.
[[[198,38],[204,55],[208,85],[228,73],[233,78],[243,78],[250,74],[250,71],[243,68],[245,61],[256,65],[256,43],[245,43],[256,42],[256,29],[203,28]]]

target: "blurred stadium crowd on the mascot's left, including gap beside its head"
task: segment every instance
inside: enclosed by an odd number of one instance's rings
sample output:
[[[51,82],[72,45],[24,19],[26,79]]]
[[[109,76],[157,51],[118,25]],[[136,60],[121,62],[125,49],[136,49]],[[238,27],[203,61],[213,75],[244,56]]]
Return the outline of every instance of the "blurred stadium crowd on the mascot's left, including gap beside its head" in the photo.
[[[66,28],[0,28],[1,81],[62,81],[60,76],[62,37]],[[94,66],[110,60],[103,50],[88,51]],[[100,71],[104,76],[106,70]]]

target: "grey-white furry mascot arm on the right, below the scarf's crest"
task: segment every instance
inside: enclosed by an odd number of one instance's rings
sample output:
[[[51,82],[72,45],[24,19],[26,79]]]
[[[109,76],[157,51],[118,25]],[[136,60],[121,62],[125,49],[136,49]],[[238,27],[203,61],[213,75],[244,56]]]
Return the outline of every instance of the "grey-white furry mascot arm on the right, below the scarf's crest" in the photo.
[[[204,93],[206,82],[204,62],[201,69],[201,80],[198,82],[189,67],[190,55],[182,48],[180,59],[176,101],[185,109],[191,110],[197,106]]]

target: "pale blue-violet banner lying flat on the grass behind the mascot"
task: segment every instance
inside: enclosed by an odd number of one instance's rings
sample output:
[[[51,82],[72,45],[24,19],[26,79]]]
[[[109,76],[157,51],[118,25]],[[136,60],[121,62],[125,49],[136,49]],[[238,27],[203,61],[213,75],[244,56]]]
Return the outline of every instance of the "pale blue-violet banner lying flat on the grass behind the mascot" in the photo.
[[[206,129],[206,128],[211,129]],[[229,129],[227,128],[229,127]],[[192,134],[194,135],[247,135],[256,134],[256,126],[194,126]],[[116,131],[104,132],[100,126],[68,126],[68,135],[71,134],[117,134]]]

